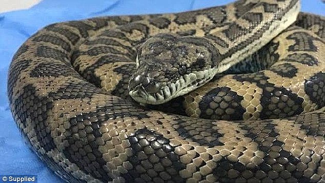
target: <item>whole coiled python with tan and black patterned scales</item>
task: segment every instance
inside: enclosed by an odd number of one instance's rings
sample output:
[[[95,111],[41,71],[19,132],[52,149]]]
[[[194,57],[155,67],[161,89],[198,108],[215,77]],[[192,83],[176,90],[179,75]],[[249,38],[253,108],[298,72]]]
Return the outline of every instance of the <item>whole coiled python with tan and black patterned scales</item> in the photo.
[[[51,24],[12,58],[13,118],[68,182],[324,182],[325,18],[299,8]]]

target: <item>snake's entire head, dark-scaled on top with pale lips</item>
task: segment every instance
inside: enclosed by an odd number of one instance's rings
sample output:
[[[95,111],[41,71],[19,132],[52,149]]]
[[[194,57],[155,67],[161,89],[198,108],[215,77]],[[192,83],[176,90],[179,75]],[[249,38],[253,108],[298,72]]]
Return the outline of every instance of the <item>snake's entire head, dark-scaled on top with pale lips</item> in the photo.
[[[144,104],[161,104],[187,94],[215,75],[217,51],[204,38],[160,34],[139,48],[129,95]]]

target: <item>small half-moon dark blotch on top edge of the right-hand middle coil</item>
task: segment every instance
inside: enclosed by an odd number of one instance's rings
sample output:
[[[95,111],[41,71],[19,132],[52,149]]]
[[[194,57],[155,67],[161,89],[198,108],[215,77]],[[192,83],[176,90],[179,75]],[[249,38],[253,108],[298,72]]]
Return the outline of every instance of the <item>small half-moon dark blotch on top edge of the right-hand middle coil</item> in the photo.
[[[298,62],[309,66],[318,65],[318,60],[307,53],[294,53],[288,55],[283,61]]]

